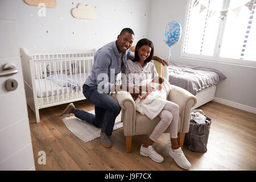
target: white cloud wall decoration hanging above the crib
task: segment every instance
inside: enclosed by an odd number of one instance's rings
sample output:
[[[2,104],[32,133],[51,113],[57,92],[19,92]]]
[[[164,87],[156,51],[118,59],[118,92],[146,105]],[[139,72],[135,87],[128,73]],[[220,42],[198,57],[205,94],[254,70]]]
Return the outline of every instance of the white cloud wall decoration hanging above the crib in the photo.
[[[97,14],[94,12],[93,7],[90,5],[84,5],[80,3],[77,8],[72,10],[72,15],[75,18],[81,19],[96,19]]]

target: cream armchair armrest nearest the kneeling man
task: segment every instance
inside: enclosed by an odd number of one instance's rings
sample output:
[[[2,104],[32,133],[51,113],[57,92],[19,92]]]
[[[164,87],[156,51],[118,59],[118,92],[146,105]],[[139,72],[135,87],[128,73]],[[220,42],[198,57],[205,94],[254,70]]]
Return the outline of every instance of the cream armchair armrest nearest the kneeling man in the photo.
[[[133,136],[136,122],[136,108],[133,97],[129,92],[118,91],[117,101],[122,108],[123,133],[125,136]]]

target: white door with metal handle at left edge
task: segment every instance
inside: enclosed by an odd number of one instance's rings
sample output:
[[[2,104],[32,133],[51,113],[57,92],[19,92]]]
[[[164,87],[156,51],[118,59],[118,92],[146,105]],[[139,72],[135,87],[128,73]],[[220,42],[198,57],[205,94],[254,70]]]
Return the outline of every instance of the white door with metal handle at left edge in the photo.
[[[0,171],[35,169],[13,5],[0,1]],[[4,76],[12,71],[3,71],[5,64],[14,64],[18,73]],[[6,89],[9,79],[18,82],[13,91]]]

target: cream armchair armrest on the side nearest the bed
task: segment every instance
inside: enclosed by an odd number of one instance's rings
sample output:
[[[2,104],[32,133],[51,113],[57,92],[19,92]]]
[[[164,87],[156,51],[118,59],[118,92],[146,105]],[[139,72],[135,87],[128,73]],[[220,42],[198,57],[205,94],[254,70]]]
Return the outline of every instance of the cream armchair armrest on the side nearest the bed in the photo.
[[[191,108],[196,105],[197,98],[179,86],[171,85],[168,100],[179,105],[181,117],[179,133],[188,133]]]

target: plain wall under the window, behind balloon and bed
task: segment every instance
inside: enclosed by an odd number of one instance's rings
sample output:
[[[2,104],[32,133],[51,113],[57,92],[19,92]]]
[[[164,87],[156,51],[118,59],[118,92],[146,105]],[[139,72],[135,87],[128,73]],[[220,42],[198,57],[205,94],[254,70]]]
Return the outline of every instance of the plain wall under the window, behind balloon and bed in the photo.
[[[164,28],[168,22],[176,20],[185,31],[187,2],[185,0],[151,0],[148,36],[154,43],[155,55],[161,55],[168,60],[169,47],[163,41]],[[183,37],[179,43],[172,46],[171,61],[218,69],[227,78],[217,85],[216,101],[255,112],[256,68],[180,57]]]

